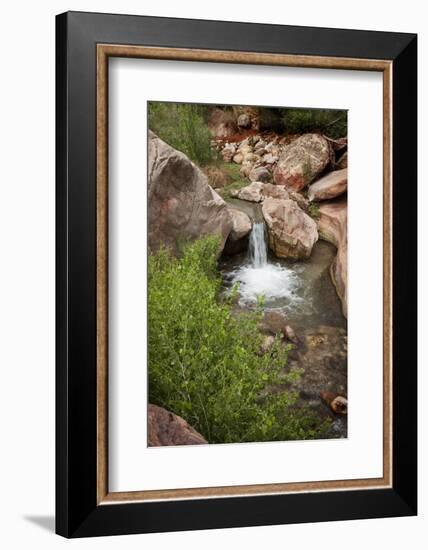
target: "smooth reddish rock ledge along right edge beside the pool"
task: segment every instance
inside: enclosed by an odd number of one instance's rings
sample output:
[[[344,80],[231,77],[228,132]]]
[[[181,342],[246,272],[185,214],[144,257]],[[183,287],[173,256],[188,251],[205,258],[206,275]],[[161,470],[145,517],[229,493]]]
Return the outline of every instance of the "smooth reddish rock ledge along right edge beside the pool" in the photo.
[[[331,203],[322,203],[319,208],[318,231],[320,237],[337,248],[330,273],[336,292],[342,302],[343,315],[348,314],[347,278],[348,278],[348,234],[346,199]]]

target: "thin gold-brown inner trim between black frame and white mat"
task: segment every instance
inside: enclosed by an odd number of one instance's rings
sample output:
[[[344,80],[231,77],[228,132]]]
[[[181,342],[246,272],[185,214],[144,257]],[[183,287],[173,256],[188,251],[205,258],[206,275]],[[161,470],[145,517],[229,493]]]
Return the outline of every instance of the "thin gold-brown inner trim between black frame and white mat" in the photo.
[[[205,61],[383,73],[383,476],[298,483],[108,490],[108,59]],[[97,45],[97,504],[392,487],[392,62],[339,57]]]

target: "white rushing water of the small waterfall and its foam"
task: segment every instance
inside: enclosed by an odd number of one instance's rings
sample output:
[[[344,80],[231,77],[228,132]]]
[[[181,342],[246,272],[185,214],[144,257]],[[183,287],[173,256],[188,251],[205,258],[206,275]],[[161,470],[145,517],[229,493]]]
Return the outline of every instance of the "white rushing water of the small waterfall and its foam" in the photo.
[[[285,299],[291,306],[300,301],[296,290],[299,280],[291,269],[268,262],[266,229],[264,223],[254,223],[250,234],[248,262],[231,273],[231,282],[239,282],[240,303],[252,305],[259,296],[265,304]]]

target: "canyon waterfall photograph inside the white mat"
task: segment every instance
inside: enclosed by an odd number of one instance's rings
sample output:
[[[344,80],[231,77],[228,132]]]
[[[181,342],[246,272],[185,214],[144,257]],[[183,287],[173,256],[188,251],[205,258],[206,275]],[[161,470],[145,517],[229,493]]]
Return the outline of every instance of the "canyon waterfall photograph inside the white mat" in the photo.
[[[347,438],[347,110],[147,118],[147,445]]]

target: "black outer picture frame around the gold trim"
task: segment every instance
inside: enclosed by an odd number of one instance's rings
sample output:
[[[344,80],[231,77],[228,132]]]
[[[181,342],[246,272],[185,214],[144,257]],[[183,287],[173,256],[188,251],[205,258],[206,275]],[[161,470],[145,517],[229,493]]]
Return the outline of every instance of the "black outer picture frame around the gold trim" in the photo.
[[[97,504],[100,43],[392,62],[391,488]],[[87,537],[415,515],[417,36],[68,12],[56,18],[56,98],[56,532]]]

